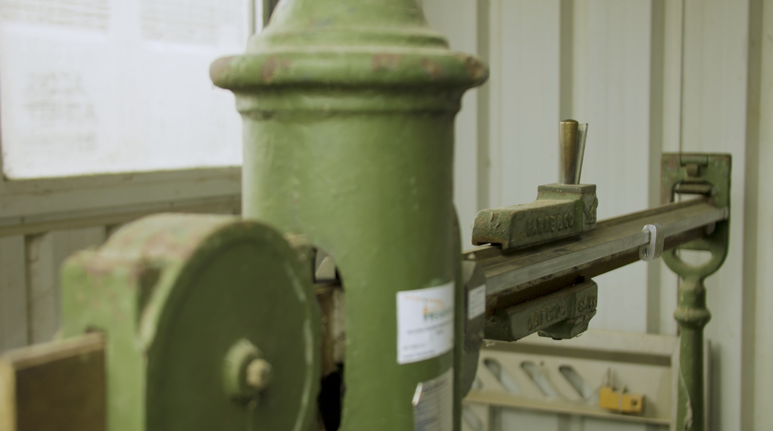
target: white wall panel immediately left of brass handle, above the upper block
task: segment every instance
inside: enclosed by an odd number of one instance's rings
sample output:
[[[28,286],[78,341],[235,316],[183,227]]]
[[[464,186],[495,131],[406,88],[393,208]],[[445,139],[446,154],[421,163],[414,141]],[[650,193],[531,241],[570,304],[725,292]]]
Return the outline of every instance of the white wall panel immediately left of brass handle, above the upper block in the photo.
[[[559,2],[503,0],[499,6],[499,199],[534,200],[540,184],[558,180]]]

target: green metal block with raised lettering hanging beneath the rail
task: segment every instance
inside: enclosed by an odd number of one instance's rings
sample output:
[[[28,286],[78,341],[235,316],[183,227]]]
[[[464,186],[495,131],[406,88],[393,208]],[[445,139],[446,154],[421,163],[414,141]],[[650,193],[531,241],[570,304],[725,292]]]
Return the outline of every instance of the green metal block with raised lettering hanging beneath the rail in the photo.
[[[596,282],[582,282],[517,306],[497,310],[485,323],[485,337],[515,341],[535,332],[556,340],[577,337],[587,330],[588,322],[596,314],[597,303]]]

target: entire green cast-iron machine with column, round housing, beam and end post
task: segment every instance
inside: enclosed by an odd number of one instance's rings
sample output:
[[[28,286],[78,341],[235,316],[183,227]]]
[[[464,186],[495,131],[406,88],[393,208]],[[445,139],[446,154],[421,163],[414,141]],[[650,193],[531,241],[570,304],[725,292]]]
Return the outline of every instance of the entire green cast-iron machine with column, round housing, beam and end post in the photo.
[[[61,339],[0,362],[0,429],[43,429],[41,405],[67,429],[460,429],[482,340],[581,334],[591,278],[661,254],[684,279],[679,429],[703,429],[729,156],[664,154],[662,206],[597,221],[587,125],[561,121],[560,183],[480,211],[462,253],[454,118],[488,71],[414,0],[283,0],[210,75],[243,117],[243,217],[146,217],[70,258]]]

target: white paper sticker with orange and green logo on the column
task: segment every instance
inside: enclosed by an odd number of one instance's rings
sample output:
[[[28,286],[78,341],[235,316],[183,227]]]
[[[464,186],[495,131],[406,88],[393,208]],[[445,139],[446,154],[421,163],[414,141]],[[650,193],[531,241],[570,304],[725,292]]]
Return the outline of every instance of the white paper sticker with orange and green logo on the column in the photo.
[[[397,292],[397,363],[438,357],[454,347],[454,282]]]

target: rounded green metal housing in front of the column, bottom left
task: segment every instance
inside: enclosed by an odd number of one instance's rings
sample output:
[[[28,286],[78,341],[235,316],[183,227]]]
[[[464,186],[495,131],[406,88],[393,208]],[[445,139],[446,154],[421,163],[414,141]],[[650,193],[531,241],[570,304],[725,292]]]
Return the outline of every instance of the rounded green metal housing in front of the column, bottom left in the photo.
[[[261,224],[160,214],[68,259],[63,337],[107,335],[107,429],[314,426],[319,312],[300,256]],[[224,361],[240,340],[281,382],[259,398],[226,395]]]

